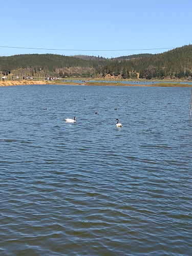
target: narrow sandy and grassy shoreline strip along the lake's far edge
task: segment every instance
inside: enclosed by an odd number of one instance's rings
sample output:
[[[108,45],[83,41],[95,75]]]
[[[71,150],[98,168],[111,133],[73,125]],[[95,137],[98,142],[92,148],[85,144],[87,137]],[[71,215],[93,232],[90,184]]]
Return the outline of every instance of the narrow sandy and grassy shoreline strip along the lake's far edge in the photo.
[[[146,81],[148,82],[148,81]],[[128,87],[192,87],[192,84],[188,83],[179,83],[179,82],[160,82],[155,83],[157,81],[153,81],[151,84],[129,84],[129,83],[121,83],[121,81],[117,82],[103,82],[103,81],[87,81],[86,83],[78,83],[78,82],[73,82],[73,81],[26,81],[26,80],[21,80],[21,81],[0,81],[0,87],[4,86],[22,86],[22,85],[27,85],[27,84],[69,84],[73,86],[128,86]]]

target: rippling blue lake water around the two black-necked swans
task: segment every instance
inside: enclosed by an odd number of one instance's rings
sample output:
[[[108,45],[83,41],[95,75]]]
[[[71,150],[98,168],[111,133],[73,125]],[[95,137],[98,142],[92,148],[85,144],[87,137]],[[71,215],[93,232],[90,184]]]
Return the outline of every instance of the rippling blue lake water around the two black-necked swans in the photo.
[[[0,255],[191,255],[191,88],[0,95]]]

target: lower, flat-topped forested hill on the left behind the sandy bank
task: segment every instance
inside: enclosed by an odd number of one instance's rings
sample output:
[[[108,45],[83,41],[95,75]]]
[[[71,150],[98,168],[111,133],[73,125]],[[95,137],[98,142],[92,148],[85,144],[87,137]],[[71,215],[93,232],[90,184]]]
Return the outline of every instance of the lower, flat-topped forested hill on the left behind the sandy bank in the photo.
[[[57,54],[22,54],[0,57],[0,70],[3,73],[39,73],[52,75],[92,75],[99,73],[108,60],[84,60],[73,56]]]

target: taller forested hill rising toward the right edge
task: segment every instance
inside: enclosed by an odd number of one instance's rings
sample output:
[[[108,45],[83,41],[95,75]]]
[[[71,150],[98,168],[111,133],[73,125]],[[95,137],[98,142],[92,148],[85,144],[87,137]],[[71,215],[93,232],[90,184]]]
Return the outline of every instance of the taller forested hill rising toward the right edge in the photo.
[[[129,78],[187,78],[191,79],[192,71],[192,45],[183,46],[154,54],[145,58],[114,61],[102,68],[102,75],[121,75]]]

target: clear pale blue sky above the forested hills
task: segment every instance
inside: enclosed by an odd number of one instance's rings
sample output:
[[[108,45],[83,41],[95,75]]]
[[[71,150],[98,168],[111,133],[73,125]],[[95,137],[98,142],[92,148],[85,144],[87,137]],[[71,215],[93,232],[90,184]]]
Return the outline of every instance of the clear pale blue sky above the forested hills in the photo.
[[[0,47],[0,56],[26,53],[118,57],[192,43],[192,1],[11,0],[1,4],[0,46],[133,51],[53,51]]]

